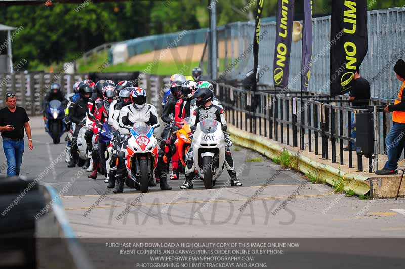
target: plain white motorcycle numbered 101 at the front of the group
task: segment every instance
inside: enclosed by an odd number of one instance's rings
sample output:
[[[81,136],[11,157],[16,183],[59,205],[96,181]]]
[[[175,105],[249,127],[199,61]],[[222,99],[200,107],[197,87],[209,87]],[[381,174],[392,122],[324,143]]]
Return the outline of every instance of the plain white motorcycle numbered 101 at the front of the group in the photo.
[[[220,122],[206,119],[198,123],[193,134],[193,158],[195,170],[203,178],[206,189],[211,189],[222,174],[225,146]]]

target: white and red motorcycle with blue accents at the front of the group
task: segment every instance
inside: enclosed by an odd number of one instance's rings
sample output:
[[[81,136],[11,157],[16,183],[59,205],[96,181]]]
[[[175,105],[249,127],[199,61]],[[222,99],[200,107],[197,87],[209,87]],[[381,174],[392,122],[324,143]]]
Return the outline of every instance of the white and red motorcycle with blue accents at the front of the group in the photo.
[[[157,167],[159,150],[153,131],[145,122],[135,122],[130,129],[131,137],[125,152],[125,166],[129,177],[126,185],[141,190],[142,193],[147,193]]]

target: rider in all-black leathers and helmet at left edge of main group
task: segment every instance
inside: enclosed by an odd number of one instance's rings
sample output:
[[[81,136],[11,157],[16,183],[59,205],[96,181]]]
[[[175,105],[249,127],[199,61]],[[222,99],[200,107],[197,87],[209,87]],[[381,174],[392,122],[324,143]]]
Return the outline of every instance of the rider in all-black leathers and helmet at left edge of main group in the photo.
[[[79,99],[73,103],[73,105],[69,108],[69,120],[72,123],[76,124],[76,128],[74,129],[73,133],[73,141],[72,141],[72,149],[70,153],[70,161],[67,167],[75,167],[76,166],[76,155],[77,155],[77,135],[82,128],[80,123],[83,121],[83,118],[86,117],[87,112],[87,102],[93,92],[93,89],[87,84],[80,84],[79,88]]]

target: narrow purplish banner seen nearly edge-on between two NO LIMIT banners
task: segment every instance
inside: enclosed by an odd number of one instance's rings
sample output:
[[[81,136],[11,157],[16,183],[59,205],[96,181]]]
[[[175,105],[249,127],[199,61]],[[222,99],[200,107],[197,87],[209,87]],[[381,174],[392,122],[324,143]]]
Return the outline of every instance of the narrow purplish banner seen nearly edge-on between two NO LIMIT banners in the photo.
[[[302,32],[301,90],[308,91],[312,65],[312,0],[304,0]]]

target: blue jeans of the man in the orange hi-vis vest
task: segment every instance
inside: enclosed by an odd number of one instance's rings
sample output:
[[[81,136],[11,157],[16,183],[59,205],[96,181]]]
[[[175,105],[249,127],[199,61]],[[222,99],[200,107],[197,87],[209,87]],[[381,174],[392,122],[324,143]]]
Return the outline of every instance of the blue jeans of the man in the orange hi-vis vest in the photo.
[[[401,157],[405,137],[405,123],[396,123],[392,125],[387,137],[385,138],[385,145],[387,150],[388,161],[385,163],[384,168],[388,170],[396,170],[398,168],[398,160]]]

